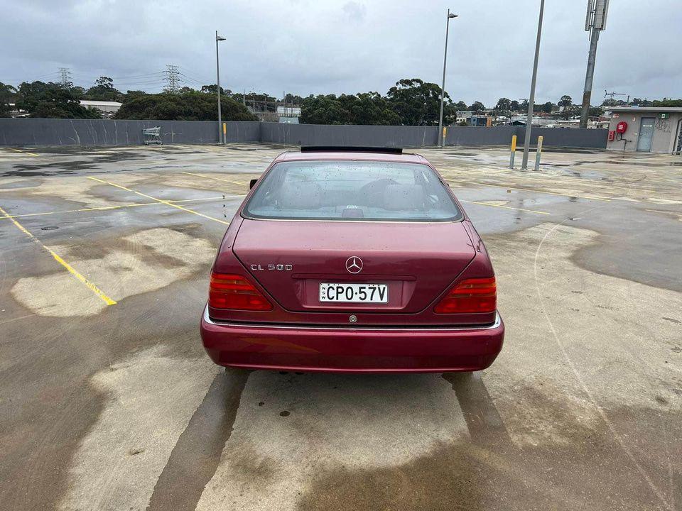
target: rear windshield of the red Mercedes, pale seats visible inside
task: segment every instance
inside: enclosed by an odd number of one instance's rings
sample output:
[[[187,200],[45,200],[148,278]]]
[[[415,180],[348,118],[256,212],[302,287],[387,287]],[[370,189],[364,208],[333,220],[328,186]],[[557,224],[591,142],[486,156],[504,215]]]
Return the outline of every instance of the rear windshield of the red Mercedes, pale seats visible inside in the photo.
[[[274,165],[244,207],[244,216],[453,221],[462,215],[428,165],[306,160]]]

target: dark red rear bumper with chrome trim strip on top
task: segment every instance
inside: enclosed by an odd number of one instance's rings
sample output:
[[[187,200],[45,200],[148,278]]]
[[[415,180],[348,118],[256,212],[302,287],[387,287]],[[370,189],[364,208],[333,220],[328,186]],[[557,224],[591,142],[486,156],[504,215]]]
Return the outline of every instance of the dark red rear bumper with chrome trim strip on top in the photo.
[[[216,322],[205,309],[200,328],[220,366],[337,373],[481,370],[504,341],[499,314],[485,326],[381,329]]]

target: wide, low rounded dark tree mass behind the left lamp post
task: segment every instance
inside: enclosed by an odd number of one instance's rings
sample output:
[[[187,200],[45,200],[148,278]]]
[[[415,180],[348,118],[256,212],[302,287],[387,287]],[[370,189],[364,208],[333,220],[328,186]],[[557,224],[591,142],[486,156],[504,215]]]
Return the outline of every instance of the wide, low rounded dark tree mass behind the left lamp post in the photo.
[[[124,102],[114,119],[158,119],[169,121],[216,121],[217,95],[204,92],[144,94]],[[244,105],[220,97],[224,121],[257,121]]]

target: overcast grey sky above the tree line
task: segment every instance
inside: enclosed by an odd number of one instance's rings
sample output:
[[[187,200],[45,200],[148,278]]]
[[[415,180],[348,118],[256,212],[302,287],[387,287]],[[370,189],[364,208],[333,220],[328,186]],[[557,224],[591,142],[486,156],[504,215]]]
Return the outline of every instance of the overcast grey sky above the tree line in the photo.
[[[547,0],[536,102],[581,101],[588,56],[587,0]],[[57,80],[121,90],[163,87],[166,64],[185,84],[215,83],[215,30],[223,87],[308,94],[386,91],[401,78],[440,83],[486,106],[526,98],[539,0],[3,0],[0,82]],[[592,104],[604,90],[682,97],[680,0],[612,0],[597,51]]]

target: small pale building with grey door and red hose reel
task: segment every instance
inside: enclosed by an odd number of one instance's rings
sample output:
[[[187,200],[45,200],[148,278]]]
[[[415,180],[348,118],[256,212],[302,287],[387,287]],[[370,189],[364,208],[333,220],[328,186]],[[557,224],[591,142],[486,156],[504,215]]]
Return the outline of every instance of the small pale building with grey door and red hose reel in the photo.
[[[641,153],[682,151],[682,108],[611,106],[606,148]]]

